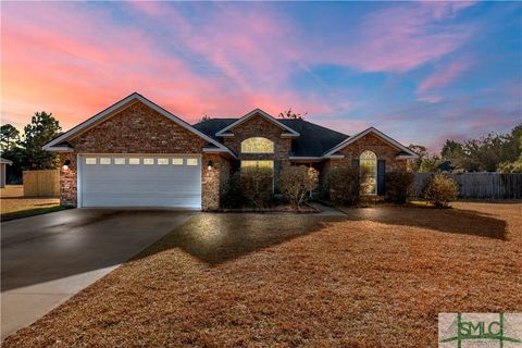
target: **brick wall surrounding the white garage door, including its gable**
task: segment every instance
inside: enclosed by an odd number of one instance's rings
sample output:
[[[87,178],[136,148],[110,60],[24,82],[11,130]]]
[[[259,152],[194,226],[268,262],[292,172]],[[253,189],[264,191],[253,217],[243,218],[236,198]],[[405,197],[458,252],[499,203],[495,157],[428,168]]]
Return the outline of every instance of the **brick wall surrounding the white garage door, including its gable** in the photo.
[[[77,204],[77,153],[202,153],[208,141],[181,127],[164,115],[135,102],[114,116],[67,140],[74,152],[60,154],[60,163],[71,161],[69,170],[61,169],[61,203]],[[208,171],[212,160],[216,169]],[[217,209],[222,173],[228,161],[220,154],[202,154],[201,202],[203,210]],[[225,175],[225,174],[223,174]]]

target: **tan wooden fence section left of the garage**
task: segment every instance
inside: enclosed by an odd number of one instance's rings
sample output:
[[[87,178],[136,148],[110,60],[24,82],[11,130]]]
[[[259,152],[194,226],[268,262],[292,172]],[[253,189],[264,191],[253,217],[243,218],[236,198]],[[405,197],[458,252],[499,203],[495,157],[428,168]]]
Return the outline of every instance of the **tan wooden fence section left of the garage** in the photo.
[[[24,196],[59,196],[60,170],[24,171]]]

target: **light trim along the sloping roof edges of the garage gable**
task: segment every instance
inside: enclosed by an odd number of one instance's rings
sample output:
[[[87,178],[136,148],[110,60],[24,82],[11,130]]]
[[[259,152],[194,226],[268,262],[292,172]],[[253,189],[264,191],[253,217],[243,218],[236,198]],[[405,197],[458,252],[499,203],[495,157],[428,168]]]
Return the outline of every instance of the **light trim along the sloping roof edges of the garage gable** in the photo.
[[[222,152],[228,152],[232,156],[234,156],[232,153],[232,151],[227,147],[225,147],[224,145],[220,144],[219,141],[209,137],[208,135],[201,133],[200,130],[196,129],[195,127],[192,127],[191,125],[189,125],[188,123],[183,121],[182,119],[175,116],[174,114],[170,113],[165,109],[159,107],[158,104],[153,103],[152,101],[150,101],[149,99],[145,98],[144,96],[141,96],[137,92],[134,92],[134,94],[129,95],[128,97],[120,100],[119,102],[116,102],[113,105],[107,108],[105,110],[101,111],[100,113],[94,115],[92,117],[88,119],[87,121],[85,121],[85,122],[78,124],[77,126],[73,127],[69,132],[65,132],[61,136],[52,139],[51,141],[49,141],[48,144],[46,144],[44,146],[44,150],[48,150],[48,151],[67,151],[69,150],[70,151],[71,150],[70,147],[63,146],[64,141],[66,141],[67,139],[71,139],[72,137],[77,136],[80,133],[96,126],[100,122],[117,114],[120,111],[126,109],[127,107],[134,104],[137,101],[144,103],[145,105],[151,108],[152,110],[157,111],[161,115],[170,119],[171,121],[173,121],[177,125],[182,126],[183,128],[196,134],[197,136],[203,138],[204,140],[209,141],[210,144],[214,145]]]

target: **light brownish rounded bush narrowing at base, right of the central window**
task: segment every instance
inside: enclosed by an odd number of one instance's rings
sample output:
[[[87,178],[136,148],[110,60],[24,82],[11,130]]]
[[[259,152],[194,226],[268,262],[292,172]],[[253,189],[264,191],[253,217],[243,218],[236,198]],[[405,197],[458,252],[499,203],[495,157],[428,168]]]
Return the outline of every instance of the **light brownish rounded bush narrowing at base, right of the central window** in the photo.
[[[295,210],[307,199],[307,194],[318,187],[319,173],[304,165],[286,166],[279,173],[279,190]]]

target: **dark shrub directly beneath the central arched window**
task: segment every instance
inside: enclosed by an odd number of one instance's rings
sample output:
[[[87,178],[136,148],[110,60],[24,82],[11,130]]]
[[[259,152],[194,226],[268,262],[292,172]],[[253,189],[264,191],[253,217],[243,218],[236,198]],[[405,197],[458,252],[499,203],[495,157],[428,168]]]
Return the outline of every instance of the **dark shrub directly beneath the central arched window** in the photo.
[[[272,169],[251,167],[240,173],[241,195],[257,209],[268,206],[274,189]]]

